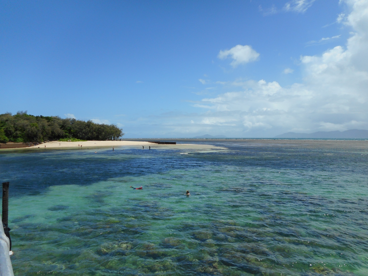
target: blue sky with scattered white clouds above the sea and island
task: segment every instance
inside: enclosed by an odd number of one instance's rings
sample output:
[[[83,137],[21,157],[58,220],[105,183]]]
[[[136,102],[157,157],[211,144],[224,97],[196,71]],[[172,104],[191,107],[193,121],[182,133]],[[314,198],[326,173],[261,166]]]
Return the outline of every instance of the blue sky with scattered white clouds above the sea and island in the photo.
[[[367,129],[367,2],[1,1],[0,113],[127,138]]]

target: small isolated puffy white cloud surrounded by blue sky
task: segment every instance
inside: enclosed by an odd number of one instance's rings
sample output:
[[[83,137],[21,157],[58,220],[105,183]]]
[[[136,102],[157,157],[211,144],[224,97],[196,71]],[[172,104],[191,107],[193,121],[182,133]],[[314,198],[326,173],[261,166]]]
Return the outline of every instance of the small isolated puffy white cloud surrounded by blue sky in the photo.
[[[221,50],[218,55],[219,59],[226,59],[228,56],[231,56],[233,59],[230,63],[231,66],[237,67],[239,64],[245,64],[257,60],[259,53],[253,50],[250,45],[236,45],[230,50]]]

